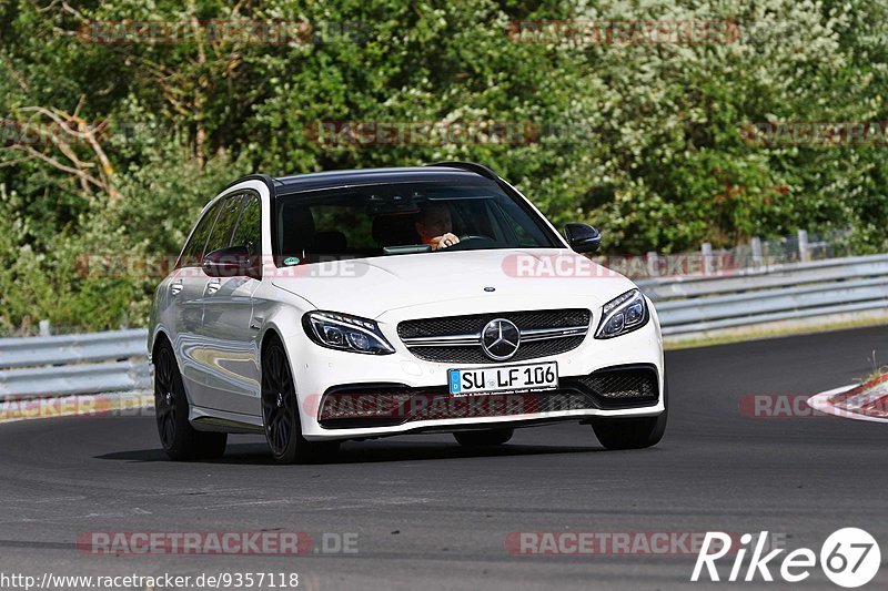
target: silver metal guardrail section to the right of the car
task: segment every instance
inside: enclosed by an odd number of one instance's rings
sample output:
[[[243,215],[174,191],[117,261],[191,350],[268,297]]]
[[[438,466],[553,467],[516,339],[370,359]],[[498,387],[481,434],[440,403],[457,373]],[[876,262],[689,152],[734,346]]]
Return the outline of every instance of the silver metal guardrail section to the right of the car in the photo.
[[[888,308],[888,254],[638,282],[655,302],[663,334]]]

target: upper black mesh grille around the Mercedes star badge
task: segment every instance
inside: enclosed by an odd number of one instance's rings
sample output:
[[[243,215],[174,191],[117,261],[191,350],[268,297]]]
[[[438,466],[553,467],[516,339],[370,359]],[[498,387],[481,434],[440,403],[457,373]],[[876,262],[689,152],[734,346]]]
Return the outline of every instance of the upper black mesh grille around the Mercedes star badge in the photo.
[[[508,361],[525,361],[538,357],[548,357],[575,349],[586,337],[592,314],[587,309],[549,309],[529,312],[506,312],[498,314],[472,314],[443,318],[423,318],[404,320],[397,325],[397,335],[402,339],[423,339],[448,337],[455,335],[477,336],[471,344],[415,346],[406,343],[407,349],[426,361],[454,364],[493,364],[502,363],[485,355],[480,344],[481,330],[495,318],[511,320],[519,330],[558,329],[583,327],[582,333],[571,336],[525,340]]]

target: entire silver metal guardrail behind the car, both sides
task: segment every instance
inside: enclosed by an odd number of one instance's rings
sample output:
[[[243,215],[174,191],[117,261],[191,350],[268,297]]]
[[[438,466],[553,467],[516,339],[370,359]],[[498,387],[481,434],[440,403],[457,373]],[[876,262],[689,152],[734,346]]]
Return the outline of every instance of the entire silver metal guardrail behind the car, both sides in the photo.
[[[637,282],[663,334],[888,310],[888,254]],[[145,329],[0,339],[0,401],[151,387]]]

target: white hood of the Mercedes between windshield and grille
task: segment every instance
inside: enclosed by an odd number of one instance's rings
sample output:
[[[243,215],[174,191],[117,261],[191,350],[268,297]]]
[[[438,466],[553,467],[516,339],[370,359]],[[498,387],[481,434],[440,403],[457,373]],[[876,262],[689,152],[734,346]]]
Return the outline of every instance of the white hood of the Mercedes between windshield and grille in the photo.
[[[276,287],[319,309],[377,318],[405,307],[502,303],[534,309],[582,300],[593,308],[632,289],[623,275],[566,248],[460,251],[357,258],[280,269]],[[574,305],[574,304],[569,304]]]

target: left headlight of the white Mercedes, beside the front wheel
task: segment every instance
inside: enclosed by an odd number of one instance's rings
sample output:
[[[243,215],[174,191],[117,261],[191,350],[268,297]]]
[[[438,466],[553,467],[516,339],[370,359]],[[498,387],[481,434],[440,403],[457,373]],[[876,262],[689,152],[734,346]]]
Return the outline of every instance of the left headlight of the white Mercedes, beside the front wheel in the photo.
[[[331,349],[370,355],[394,353],[373,320],[335,312],[310,312],[302,317],[309,338]]]

